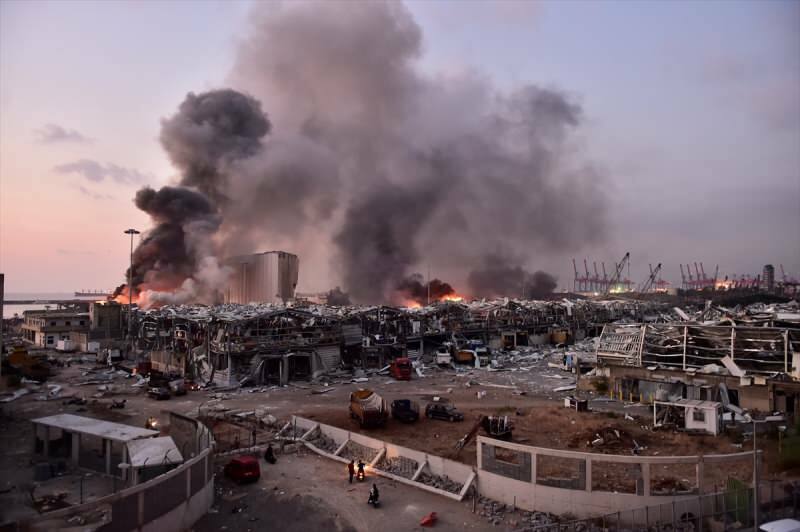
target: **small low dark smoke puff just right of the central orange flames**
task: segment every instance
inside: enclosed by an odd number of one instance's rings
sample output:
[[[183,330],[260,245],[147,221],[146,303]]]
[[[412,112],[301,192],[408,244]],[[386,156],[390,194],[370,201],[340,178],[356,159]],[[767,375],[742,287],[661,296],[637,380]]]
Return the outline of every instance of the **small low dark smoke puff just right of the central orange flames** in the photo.
[[[514,259],[503,255],[489,255],[482,268],[470,272],[467,282],[471,294],[478,298],[521,297],[542,299],[553,293],[556,278],[549,273],[530,273]]]

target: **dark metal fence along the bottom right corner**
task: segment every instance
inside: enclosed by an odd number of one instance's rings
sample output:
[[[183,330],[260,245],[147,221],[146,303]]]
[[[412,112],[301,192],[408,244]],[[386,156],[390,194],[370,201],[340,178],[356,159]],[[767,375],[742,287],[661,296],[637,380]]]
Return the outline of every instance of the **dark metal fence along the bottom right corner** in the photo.
[[[758,522],[800,517],[800,483],[766,481],[759,484]],[[753,527],[753,488],[625,510],[591,519],[532,527],[536,532],[740,530]]]

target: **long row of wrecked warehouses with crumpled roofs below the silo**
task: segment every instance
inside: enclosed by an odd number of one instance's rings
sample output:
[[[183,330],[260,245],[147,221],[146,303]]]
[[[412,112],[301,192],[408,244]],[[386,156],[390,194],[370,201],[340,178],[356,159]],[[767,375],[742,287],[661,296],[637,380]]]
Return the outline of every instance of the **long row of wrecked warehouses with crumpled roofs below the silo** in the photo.
[[[611,320],[653,312],[625,301],[442,302],[423,309],[282,304],[162,307],[140,312],[137,345],[153,369],[221,385],[309,380],[430,357],[444,342],[492,349],[568,344]]]

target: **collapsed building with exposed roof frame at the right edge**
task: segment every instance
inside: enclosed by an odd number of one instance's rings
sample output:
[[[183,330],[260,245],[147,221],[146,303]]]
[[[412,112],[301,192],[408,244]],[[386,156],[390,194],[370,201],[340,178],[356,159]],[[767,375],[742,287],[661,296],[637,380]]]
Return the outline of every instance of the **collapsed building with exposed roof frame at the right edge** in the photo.
[[[717,401],[742,409],[800,411],[800,328],[699,323],[609,324],[596,374],[615,396]]]

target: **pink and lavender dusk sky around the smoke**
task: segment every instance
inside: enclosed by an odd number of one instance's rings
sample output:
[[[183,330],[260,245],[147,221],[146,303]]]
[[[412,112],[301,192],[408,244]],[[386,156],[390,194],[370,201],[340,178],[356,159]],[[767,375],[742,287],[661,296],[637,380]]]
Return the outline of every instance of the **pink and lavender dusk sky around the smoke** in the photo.
[[[532,267],[630,251],[726,274],[800,277],[800,2],[407,2],[419,68],[558,87],[612,201],[610,240]],[[132,197],[175,170],[160,120],[228,86],[249,2],[0,2],[0,271],[7,292],[123,281]],[[234,87],[235,88],[235,87]],[[269,102],[263,102],[269,113]],[[315,270],[301,291],[337,279]]]

